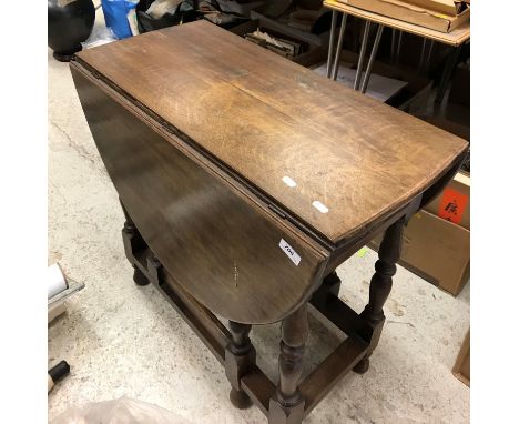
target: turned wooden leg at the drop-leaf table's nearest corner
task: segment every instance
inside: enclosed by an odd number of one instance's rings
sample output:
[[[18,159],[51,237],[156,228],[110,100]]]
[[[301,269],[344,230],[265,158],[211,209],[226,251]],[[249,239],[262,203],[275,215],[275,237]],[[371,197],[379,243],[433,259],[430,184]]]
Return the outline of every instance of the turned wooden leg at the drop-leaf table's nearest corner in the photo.
[[[269,424],[296,424],[303,421],[305,400],[298,384],[303,372],[303,355],[308,336],[306,303],[282,324],[279,383],[276,398],[271,398]]]

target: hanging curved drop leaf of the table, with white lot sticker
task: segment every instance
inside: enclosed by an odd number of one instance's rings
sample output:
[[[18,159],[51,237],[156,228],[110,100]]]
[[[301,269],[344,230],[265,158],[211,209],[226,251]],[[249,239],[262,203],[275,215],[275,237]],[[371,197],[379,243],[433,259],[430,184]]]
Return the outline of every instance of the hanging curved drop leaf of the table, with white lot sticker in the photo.
[[[71,69],[119,195],[179,285],[236,322],[275,322],[296,309],[320,282],[323,250],[190,155],[180,140],[157,133],[156,123],[143,122],[116,93]],[[301,262],[279,248],[282,239]]]

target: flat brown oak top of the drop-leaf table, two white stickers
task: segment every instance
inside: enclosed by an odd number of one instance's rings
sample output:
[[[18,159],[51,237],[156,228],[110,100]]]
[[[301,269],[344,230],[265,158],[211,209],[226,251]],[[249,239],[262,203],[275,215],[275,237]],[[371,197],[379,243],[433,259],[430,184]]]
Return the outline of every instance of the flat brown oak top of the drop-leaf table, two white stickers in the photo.
[[[332,242],[404,206],[467,149],[205,21],[78,57]]]

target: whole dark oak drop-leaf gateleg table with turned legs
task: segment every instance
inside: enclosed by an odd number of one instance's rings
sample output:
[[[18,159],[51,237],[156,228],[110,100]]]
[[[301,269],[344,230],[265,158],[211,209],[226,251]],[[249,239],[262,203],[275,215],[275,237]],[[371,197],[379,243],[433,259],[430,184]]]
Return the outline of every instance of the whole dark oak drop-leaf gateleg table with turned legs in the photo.
[[[346,372],[367,371],[403,228],[467,143],[206,21],[85,50],[71,71],[134,281],[152,282],[225,366],[233,404],[301,423]],[[335,269],[379,232],[357,314]],[[348,337],[302,381],[308,303]],[[279,321],[274,384],[248,332]]]

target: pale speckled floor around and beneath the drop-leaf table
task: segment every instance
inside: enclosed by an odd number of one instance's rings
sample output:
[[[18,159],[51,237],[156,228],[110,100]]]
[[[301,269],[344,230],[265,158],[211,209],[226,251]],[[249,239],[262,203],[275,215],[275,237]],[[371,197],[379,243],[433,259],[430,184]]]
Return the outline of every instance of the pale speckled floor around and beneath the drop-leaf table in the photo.
[[[49,418],[128,395],[192,423],[266,423],[255,407],[232,407],[220,363],[152,286],[133,284],[122,224],[68,64],[49,52],[49,263],[86,284],[49,326],[49,364],[72,367],[49,395]],[[375,260],[368,250],[338,269],[340,296],[357,312]],[[469,388],[450,372],[469,326],[468,285],[455,299],[399,267],[386,315],[369,372],[347,375],[305,423],[469,422]],[[252,331],[258,363],[274,380],[278,334],[278,325]],[[312,313],[306,372],[338,343]]]

